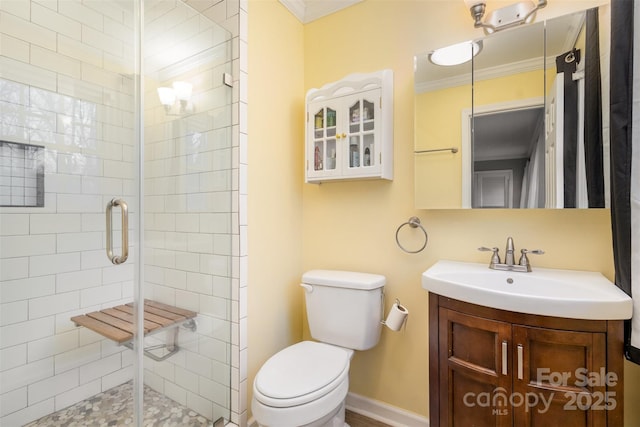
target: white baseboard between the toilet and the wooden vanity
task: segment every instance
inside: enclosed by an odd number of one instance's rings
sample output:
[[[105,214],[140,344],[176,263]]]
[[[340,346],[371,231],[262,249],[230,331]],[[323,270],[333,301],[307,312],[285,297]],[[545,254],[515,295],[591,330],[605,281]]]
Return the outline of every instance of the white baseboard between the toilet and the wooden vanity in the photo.
[[[347,394],[347,409],[393,427],[429,427],[429,419],[359,394]]]

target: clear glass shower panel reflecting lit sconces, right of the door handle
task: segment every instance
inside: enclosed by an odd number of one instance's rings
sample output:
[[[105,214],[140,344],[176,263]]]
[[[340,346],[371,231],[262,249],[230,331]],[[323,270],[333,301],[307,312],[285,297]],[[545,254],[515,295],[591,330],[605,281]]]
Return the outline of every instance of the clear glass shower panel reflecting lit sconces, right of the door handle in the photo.
[[[194,329],[145,339],[146,347],[176,339],[175,355],[145,357],[144,383],[187,409],[147,399],[144,412],[223,422],[231,407],[231,36],[182,2],[147,1],[143,42],[144,298],[197,313]]]

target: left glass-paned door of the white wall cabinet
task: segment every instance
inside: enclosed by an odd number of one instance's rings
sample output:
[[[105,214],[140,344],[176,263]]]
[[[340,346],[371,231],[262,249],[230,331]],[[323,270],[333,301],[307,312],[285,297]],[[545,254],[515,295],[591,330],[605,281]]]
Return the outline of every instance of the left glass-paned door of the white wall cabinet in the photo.
[[[328,178],[341,175],[338,109],[335,101],[310,104],[307,121],[307,176]]]

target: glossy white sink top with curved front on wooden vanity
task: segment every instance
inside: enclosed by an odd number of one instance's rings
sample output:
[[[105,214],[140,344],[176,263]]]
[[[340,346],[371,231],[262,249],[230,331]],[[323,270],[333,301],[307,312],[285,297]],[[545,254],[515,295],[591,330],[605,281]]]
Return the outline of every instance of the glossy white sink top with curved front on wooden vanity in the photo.
[[[438,261],[422,273],[429,292],[472,304],[573,319],[630,319],[631,298],[602,274],[534,268],[492,270],[487,264]]]

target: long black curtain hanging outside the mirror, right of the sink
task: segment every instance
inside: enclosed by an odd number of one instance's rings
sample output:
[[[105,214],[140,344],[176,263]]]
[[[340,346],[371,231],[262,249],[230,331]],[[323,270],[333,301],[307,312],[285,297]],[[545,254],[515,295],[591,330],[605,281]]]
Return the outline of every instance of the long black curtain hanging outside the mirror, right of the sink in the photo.
[[[611,228],[616,285],[631,295],[631,148],[633,1],[611,2]],[[625,356],[640,364],[625,323]]]

